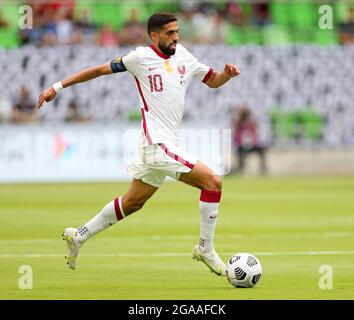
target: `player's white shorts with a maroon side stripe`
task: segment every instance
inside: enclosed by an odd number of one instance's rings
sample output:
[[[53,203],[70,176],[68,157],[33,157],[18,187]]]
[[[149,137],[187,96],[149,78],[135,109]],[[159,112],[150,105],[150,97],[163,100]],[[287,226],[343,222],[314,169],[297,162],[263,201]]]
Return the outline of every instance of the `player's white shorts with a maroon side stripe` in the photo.
[[[190,172],[198,159],[178,147],[163,143],[139,149],[140,159],[128,165],[128,173],[137,180],[160,187],[167,176],[179,180],[181,173]]]

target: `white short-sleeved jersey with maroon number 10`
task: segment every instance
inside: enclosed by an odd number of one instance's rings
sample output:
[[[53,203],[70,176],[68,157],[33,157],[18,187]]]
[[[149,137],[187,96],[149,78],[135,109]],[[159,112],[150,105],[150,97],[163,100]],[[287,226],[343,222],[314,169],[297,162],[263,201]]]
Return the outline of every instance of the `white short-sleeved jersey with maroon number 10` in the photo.
[[[141,146],[179,144],[184,101],[192,77],[206,82],[213,72],[177,44],[166,56],[155,47],[138,47],[122,57],[135,77],[142,112]]]

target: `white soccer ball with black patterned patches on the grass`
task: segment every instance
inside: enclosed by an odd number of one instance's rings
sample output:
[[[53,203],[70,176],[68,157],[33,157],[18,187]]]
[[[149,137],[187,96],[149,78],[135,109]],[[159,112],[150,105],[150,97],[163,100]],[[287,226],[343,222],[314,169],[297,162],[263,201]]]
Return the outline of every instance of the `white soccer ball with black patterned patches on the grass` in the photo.
[[[250,253],[237,253],[226,265],[227,280],[236,288],[254,287],[261,275],[261,263]]]

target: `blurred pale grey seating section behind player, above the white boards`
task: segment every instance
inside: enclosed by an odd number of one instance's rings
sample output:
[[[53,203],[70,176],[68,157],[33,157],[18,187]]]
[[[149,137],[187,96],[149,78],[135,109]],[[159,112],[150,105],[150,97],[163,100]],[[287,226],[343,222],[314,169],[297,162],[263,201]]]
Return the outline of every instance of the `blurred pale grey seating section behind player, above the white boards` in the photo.
[[[58,79],[124,55],[131,49],[96,46],[0,49],[0,98],[16,96],[21,84],[27,84],[37,98],[41,90]],[[294,141],[300,136],[335,145],[352,139],[353,47],[248,44],[237,47],[219,45],[213,46],[212,50],[210,46],[189,46],[188,49],[199,61],[216,70],[221,70],[225,62],[234,61],[240,66],[241,76],[218,90],[210,90],[200,81],[193,80],[186,99],[186,121],[211,122],[228,128],[232,110],[240,104],[247,104],[259,119],[259,129],[265,140],[270,139],[272,128],[282,141]],[[117,99],[117,88],[124,99]],[[128,73],[100,77],[65,89],[54,100],[53,108],[41,113],[43,122],[64,121],[73,98],[78,99],[85,116],[92,116],[97,122],[140,121],[136,104],[138,94]],[[282,107],[273,110],[275,105]],[[306,105],[311,105],[311,109],[304,110]]]

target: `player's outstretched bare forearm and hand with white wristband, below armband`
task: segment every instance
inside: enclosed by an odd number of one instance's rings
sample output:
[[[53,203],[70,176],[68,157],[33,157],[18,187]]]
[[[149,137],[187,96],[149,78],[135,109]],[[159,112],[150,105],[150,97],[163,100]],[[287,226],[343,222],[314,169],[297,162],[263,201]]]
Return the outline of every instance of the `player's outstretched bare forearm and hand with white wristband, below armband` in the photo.
[[[38,98],[37,108],[40,109],[44,102],[52,101],[56,97],[57,93],[63,88],[67,88],[74,84],[86,82],[99,76],[111,73],[113,72],[110,62],[74,73],[70,77],[57,82],[53,86],[44,90]]]

